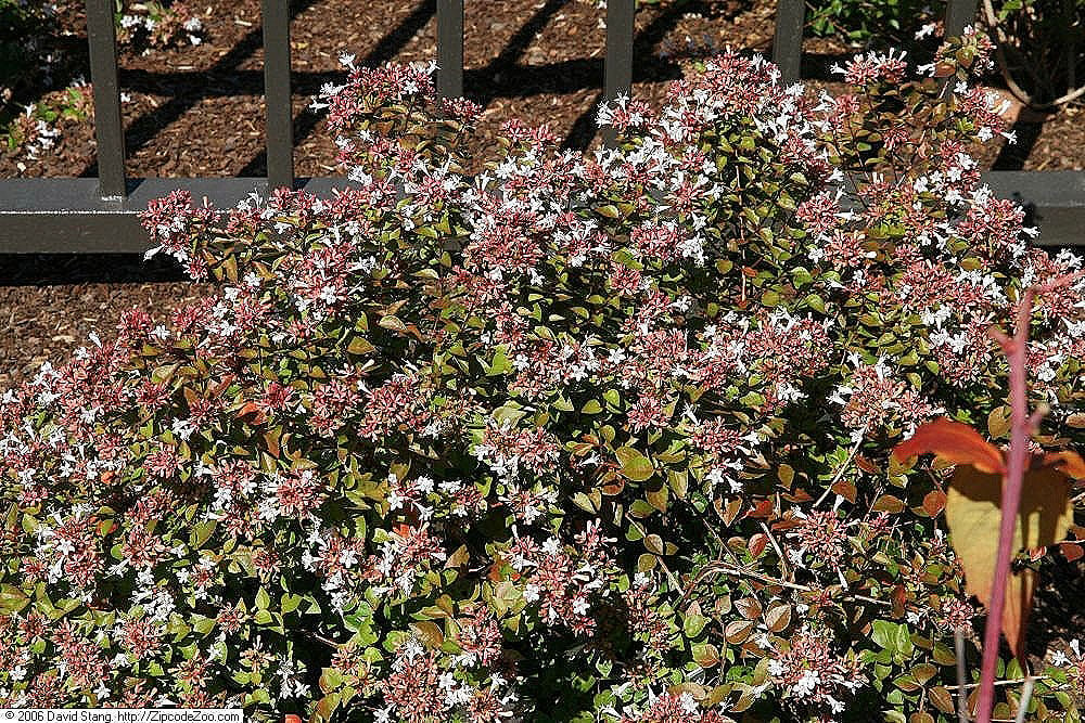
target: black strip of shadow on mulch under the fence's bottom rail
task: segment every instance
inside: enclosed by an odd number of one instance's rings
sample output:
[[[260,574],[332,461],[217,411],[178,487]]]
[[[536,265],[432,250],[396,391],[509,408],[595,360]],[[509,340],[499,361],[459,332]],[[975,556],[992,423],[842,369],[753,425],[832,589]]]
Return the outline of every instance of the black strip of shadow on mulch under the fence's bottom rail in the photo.
[[[2,254],[0,286],[191,281],[171,257],[140,254]]]

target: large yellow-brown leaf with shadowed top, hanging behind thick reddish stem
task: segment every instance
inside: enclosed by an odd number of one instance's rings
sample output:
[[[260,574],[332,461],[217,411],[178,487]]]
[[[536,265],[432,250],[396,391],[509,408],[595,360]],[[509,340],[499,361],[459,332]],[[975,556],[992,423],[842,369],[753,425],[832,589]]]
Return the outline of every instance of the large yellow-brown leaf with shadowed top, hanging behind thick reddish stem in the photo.
[[[998,557],[1001,526],[1003,477],[979,472],[970,465],[954,470],[946,499],[949,542],[965,568],[965,586],[991,605],[991,588]],[[1047,547],[1062,540],[1073,524],[1070,480],[1054,466],[1030,469],[1021,487],[1021,506],[1011,550]],[[1024,633],[1036,590],[1030,569],[1010,573],[1001,629],[1018,658],[1024,655]]]

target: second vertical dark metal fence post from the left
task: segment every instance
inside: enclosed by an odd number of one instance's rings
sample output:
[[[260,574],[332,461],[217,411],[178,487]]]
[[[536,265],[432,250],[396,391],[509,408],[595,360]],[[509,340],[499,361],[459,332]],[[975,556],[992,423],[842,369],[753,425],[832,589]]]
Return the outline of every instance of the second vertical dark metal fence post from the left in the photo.
[[[294,185],[294,111],[290,99],[290,2],[261,0],[268,193]]]

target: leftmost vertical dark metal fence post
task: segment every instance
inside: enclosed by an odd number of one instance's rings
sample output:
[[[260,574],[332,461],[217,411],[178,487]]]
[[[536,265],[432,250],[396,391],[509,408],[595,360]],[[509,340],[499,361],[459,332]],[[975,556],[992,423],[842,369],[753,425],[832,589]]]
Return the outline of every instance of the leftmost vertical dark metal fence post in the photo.
[[[90,42],[90,81],[94,92],[98,193],[102,198],[119,201],[126,194],[125,130],[120,122],[113,0],[87,0],[87,38]]]

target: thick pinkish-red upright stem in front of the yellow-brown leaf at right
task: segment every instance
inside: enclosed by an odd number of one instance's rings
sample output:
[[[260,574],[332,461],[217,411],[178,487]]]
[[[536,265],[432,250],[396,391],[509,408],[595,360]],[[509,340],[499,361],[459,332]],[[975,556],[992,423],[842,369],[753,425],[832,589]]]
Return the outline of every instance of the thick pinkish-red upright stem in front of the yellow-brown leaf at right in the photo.
[[[1021,504],[1021,487],[1029,464],[1029,438],[1032,419],[1029,415],[1029,383],[1025,359],[1029,353],[1029,324],[1032,320],[1033,292],[1026,291],[1018,307],[1017,328],[1012,339],[1003,339],[1003,350],[1010,362],[1011,437],[1010,454],[1003,477],[1003,519],[998,531],[998,557],[995,579],[991,585],[991,606],[987,624],[983,631],[983,667],[980,670],[980,699],[976,723],[991,723],[995,706],[995,667],[998,662],[998,642],[1003,629],[1003,610],[1006,607],[1006,582],[1010,576],[1010,561],[1017,552],[1013,546],[1013,527]]]

